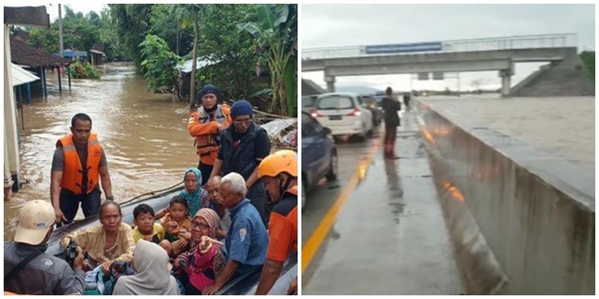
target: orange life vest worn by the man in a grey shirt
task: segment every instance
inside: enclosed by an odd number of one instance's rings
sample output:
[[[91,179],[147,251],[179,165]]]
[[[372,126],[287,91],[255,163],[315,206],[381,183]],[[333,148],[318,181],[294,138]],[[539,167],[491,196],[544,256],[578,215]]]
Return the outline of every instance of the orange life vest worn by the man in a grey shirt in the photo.
[[[98,142],[98,135],[92,133],[87,141],[87,190],[81,190],[83,167],[81,167],[81,161],[73,142],[73,135],[69,134],[60,138],[56,142],[56,147],[59,146],[62,146],[62,154],[65,157],[60,188],[71,190],[75,194],[90,193],[98,185],[100,176],[102,146]]]

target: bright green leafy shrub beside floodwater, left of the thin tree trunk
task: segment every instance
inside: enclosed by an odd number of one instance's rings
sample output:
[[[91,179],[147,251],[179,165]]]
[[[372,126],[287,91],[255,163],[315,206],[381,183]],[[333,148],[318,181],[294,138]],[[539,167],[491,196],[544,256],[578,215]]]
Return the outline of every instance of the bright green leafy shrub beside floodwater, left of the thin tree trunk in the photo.
[[[148,89],[155,93],[171,93],[173,87],[177,89],[178,73],[175,68],[181,63],[181,57],[171,52],[167,42],[156,35],[147,35],[140,49]]]

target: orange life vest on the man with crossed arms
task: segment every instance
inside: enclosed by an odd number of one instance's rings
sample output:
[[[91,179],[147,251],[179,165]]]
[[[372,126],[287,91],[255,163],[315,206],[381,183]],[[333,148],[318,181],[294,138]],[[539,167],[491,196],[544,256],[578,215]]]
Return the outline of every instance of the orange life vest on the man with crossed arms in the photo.
[[[219,124],[229,126],[232,123],[231,109],[227,105],[217,105],[214,111],[214,120],[210,120],[210,115],[205,111],[204,106],[198,108],[198,112],[192,114],[200,124],[216,121]],[[220,143],[216,142],[216,134],[199,135],[195,138],[196,154],[205,164],[214,164],[216,156],[220,149]]]

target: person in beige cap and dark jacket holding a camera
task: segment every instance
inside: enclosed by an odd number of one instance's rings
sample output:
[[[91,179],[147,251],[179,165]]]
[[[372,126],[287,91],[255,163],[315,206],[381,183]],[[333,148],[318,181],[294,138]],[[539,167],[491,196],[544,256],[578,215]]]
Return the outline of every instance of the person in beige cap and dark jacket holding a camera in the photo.
[[[14,242],[4,243],[4,291],[28,295],[83,295],[83,251],[72,266],[46,254],[55,211],[44,200],[31,200],[19,212]]]

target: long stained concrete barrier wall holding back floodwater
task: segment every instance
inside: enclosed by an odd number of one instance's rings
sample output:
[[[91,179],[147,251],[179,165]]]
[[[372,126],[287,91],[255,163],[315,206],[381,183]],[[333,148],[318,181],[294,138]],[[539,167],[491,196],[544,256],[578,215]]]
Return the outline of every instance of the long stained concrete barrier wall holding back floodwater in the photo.
[[[470,292],[594,294],[594,173],[417,106]]]

